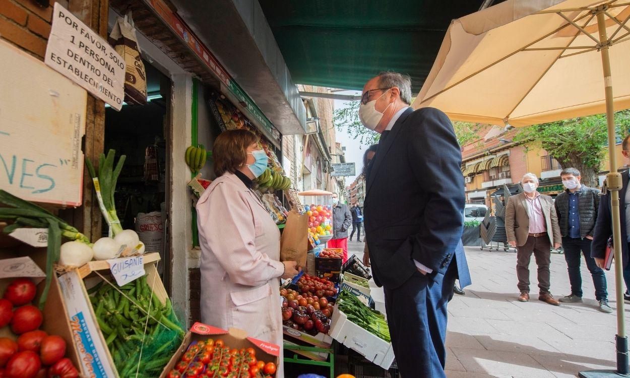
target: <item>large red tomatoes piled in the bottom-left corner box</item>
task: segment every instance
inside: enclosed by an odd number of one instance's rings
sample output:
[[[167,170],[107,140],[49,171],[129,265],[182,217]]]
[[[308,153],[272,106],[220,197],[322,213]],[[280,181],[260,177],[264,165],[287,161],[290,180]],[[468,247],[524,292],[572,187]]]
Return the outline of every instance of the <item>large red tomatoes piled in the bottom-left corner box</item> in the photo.
[[[79,372],[66,355],[66,341],[38,328],[43,314],[31,306],[36,291],[29,278],[13,280],[0,299],[0,326],[10,323],[17,342],[0,338],[0,377],[8,378],[77,378]],[[19,306],[13,309],[13,306]],[[41,375],[40,375],[41,374]]]

